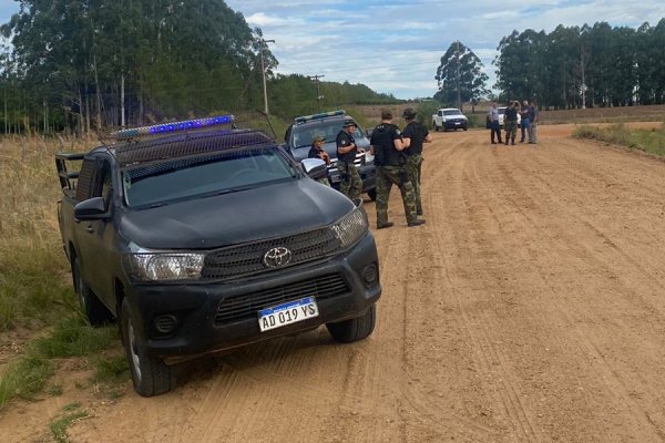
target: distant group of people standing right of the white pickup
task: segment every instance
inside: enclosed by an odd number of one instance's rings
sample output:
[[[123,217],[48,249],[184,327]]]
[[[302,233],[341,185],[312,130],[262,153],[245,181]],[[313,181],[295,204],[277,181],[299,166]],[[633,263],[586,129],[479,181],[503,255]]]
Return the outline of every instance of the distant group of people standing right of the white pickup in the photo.
[[[518,120],[518,115],[520,120]],[[516,100],[511,101],[505,106],[503,114],[503,127],[505,131],[505,141],[501,140],[501,123],[499,121],[499,109],[497,102],[492,103],[490,111],[488,112],[488,128],[490,130],[490,142],[491,144],[504,143],[515,144],[518,136],[518,126],[521,130],[520,143],[524,143],[526,135],[529,136],[530,144],[538,143],[538,120],[539,111],[535,103],[529,103],[528,100],[520,102]]]

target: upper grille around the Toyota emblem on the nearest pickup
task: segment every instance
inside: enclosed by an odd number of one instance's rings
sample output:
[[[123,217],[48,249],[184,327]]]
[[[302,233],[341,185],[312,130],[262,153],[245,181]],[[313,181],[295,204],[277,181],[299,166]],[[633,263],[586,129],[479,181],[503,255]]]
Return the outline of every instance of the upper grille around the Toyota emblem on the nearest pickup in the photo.
[[[232,280],[269,272],[325,258],[338,251],[340,246],[332,229],[327,227],[288,237],[231,246],[207,254],[201,276],[203,279]],[[277,247],[287,248],[290,251],[290,260],[284,266],[270,268],[264,262],[264,257],[268,250]]]

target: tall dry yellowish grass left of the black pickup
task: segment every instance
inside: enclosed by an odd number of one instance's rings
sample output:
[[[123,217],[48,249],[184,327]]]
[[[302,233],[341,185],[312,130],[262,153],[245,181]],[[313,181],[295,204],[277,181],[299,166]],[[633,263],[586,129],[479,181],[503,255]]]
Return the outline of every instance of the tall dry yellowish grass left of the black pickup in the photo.
[[[38,137],[0,141],[0,331],[38,326],[69,300],[57,202],[62,194],[54,153],[82,144]],[[39,323],[39,321],[38,321]]]

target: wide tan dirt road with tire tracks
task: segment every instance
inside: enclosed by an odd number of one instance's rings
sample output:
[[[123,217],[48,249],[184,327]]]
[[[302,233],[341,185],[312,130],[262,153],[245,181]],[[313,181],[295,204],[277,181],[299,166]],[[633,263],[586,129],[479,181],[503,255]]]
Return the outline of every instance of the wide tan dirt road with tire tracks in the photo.
[[[393,190],[396,226],[375,231],[366,341],[319,329],[190,362],[153,399],[72,385],[0,416],[0,440],[49,441],[83,401],[72,442],[665,441],[665,162],[569,132],[434,134],[427,225]]]

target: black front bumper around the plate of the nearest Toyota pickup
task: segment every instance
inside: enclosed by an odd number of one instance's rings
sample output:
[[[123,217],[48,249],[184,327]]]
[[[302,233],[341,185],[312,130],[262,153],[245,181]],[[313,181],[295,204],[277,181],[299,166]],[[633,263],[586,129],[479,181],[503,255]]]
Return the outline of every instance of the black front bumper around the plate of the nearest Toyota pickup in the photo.
[[[376,267],[376,282],[364,271]],[[327,261],[273,271],[236,282],[134,285],[127,291],[145,350],[167,362],[185,360],[362,315],[381,295],[378,257],[368,233]],[[314,293],[313,293],[314,292]],[[259,309],[316,298],[319,316],[262,332]]]

